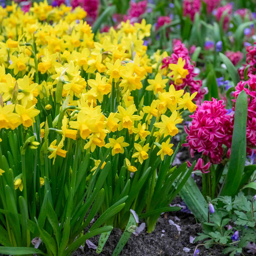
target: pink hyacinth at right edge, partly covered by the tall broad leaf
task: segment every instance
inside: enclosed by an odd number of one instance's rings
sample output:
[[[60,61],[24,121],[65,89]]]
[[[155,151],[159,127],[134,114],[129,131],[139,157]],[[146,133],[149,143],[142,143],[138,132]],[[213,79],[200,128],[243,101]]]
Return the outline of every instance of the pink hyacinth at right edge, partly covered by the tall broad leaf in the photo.
[[[247,144],[247,153],[255,153],[256,147],[256,75],[249,74],[248,81],[239,82],[235,87],[234,91],[234,105],[239,93],[244,90],[248,98],[248,114],[247,114],[247,127],[246,127],[246,144]],[[234,106],[233,106],[234,110]]]

